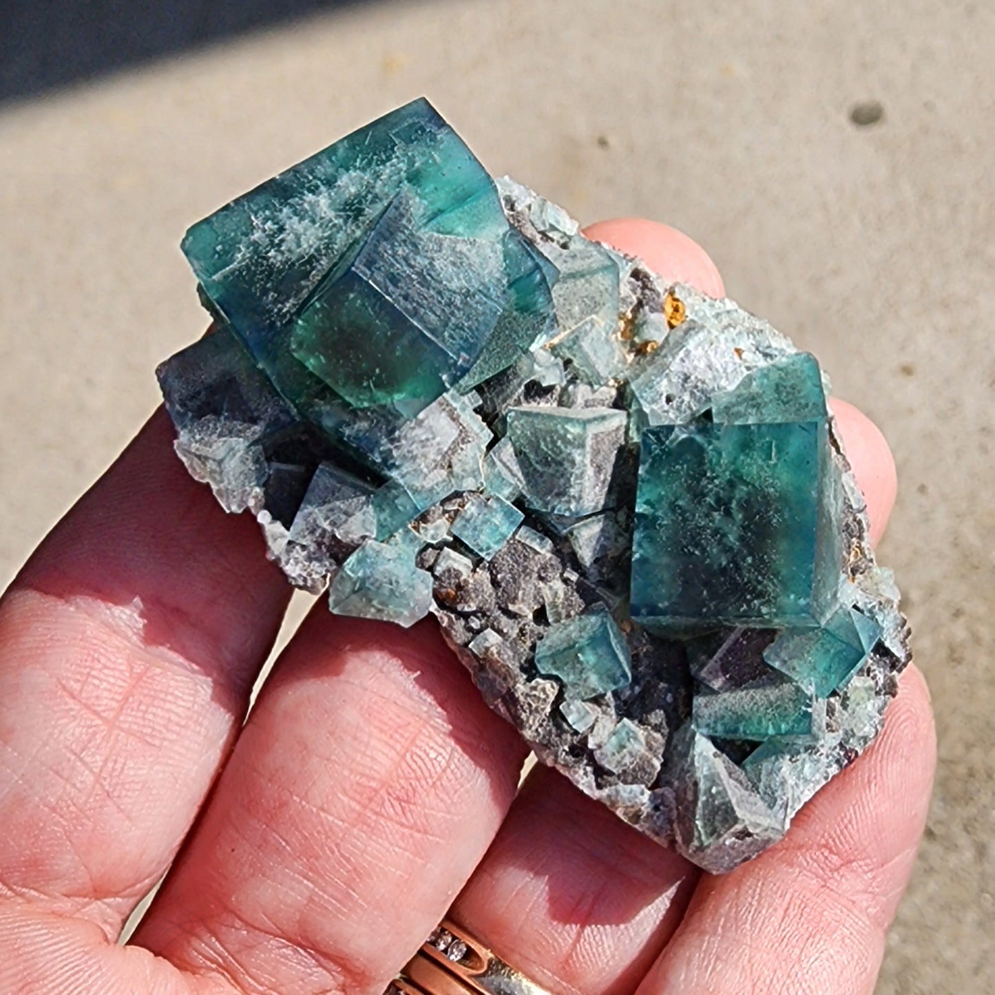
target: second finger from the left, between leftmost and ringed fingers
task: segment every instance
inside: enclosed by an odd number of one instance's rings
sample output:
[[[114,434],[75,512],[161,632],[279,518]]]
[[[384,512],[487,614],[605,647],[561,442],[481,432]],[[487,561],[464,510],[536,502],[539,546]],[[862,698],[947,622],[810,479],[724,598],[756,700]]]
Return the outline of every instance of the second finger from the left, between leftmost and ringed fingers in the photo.
[[[318,604],[135,942],[247,992],[382,992],[487,850],[524,754],[436,627]]]

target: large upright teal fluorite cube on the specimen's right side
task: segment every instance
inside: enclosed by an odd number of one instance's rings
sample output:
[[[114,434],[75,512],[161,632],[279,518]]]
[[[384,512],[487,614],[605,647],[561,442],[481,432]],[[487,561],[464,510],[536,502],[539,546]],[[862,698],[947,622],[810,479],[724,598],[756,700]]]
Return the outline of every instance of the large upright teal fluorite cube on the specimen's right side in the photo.
[[[644,429],[632,614],[647,627],[812,626],[825,611],[840,567],[810,360],[747,375],[710,417]]]

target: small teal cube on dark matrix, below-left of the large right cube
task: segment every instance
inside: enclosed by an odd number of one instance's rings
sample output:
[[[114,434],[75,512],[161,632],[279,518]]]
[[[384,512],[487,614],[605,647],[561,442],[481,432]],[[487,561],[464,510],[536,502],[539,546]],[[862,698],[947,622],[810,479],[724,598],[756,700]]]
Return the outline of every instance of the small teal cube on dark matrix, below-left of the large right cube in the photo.
[[[535,648],[535,669],[559,678],[566,697],[581,700],[618,691],[632,681],[629,646],[607,612],[550,626]]]

